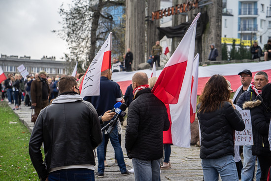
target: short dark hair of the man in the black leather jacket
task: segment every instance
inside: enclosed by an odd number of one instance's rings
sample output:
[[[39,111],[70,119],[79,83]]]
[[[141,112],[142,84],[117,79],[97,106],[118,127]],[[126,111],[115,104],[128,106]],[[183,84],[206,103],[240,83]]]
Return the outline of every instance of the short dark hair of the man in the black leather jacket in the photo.
[[[59,79],[58,89],[59,93],[71,91],[73,86],[77,86],[77,81],[74,76],[63,76]]]

